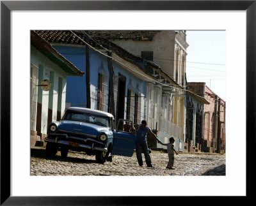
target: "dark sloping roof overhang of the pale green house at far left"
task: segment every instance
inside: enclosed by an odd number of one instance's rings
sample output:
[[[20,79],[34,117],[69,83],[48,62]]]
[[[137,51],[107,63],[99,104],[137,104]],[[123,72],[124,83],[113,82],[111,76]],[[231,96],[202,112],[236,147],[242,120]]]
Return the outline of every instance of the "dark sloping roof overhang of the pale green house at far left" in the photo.
[[[42,37],[38,36],[35,31],[31,31],[31,45],[33,45],[42,54],[48,57],[51,61],[56,63],[68,76],[83,76],[84,71],[79,70],[70,63],[63,55],[61,55],[55,48],[53,48]]]

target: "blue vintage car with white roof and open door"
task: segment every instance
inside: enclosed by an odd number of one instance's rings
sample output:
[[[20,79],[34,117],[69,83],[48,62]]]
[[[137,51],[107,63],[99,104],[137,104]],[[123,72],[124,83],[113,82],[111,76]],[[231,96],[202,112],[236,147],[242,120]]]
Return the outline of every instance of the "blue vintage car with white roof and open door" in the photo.
[[[132,126],[132,122],[129,124]],[[70,107],[61,121],[49,125],[45,142],[48,157],[54,157],[58,151],[62,158],[67,157],[68,150],[84,151],[103,164],[112,161],[113,155],[131,157],[135,136],[132,131],[114,129],[113,115],[108,112]]]

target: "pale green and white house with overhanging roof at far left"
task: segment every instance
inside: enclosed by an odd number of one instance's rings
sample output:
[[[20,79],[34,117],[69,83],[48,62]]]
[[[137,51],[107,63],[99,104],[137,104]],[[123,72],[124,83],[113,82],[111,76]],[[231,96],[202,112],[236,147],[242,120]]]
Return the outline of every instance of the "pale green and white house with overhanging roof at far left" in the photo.
[[[42,145],[49,123],[65,112],[68,75],[84,73],[31,31],[31,147]]]

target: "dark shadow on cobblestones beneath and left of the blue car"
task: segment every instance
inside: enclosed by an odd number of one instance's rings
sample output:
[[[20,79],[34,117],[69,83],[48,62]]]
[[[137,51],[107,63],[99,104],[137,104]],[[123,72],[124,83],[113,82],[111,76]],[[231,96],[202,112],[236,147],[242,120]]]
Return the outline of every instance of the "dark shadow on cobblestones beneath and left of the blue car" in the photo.
[[[83,155],[83,158],[74,158],[74,157],[68,157],[67,158],[61,158],[61,156],[56,155],[54,158],[48,158],[45,154],[44,149],[33,149],[31,148],[31,158],[38,158],[38,159],[51,159],[54,161],[65,161],[65,162],[72,162],[72,163],[96,163],[95,160],[92,159],[86,159],[86,154]]]

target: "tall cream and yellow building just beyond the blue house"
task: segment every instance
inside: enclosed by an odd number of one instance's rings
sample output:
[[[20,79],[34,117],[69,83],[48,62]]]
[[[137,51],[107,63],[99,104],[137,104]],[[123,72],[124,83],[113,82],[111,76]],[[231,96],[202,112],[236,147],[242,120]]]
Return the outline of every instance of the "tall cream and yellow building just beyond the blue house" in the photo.
[[[157,65],[162,72],[154,68],[151,75],[158,81],[164,83],[169,79],[171,84],[161,85],[161,89],[147,85],[146,120],[150,128],[159,131],[164,142],[173,136],[176,142],[182,142],[183,148],[186,138],[186,31],[89,31],[89,34],[93,38],[106,38],[144,62]]]

